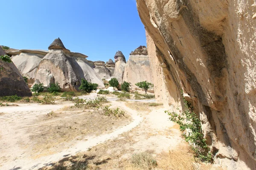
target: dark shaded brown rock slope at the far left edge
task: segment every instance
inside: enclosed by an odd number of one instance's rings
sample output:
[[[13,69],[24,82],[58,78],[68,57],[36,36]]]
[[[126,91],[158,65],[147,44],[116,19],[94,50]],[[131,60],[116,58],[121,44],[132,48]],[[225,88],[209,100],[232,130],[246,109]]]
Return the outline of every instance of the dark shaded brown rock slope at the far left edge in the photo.
[[[6,53],[0,47],[0,55]],[[0,96],[32,96],[31,91],[14,63],[0,59]]]

